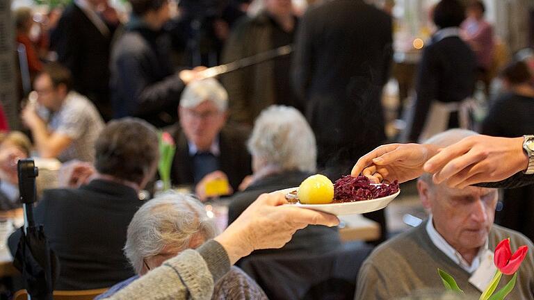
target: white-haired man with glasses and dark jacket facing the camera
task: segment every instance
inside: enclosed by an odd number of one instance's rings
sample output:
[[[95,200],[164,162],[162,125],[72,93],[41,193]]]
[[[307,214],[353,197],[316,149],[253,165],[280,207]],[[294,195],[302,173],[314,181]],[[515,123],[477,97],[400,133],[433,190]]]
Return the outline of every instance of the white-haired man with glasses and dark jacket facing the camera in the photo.
[[[207,199],[206,187],[219,179],[236,191],[249,175],[250,155],[246,149],[248,130],[227,124],[228,94],[216,79],[189,83],[181,94],[179,125],[169,129],[177,149],[172,163],[173,185],[195,185],[200,200]]]

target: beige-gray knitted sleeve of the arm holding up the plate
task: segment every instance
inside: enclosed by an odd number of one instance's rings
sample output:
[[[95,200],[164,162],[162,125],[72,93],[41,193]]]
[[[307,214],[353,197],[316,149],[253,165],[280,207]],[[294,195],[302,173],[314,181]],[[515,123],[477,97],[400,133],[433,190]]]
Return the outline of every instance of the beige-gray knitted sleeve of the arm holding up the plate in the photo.
[[[106,299],[211,299],[216,281],[230,269],[225,249],[210,240],[188,249]]]

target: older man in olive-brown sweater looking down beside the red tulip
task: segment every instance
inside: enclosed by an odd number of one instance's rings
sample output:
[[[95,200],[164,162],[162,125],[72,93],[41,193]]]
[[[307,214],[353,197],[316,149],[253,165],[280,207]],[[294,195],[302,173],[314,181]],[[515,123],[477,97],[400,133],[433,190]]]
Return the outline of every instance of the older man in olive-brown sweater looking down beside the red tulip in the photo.
[[[476,133],[453,129],[426,144],[446,147],[469,135]],[[521,245],[534,247],[521,233],[493,224],[496,189],[448,188],[444,183],[435,185],[430,174],[423,174],[417,190],[430,217],[371,253],[359,271],[355,299],[397,299],[419,290],[442,290],[437,268],[451,274],[466,294],[479,297],[496,271],[487,266],[494,266],[493,251],[501,240],[510,238],[512,251]],[[497,289],[510,278],[503,276]],[[532,251],[519,267],[510,299],[534,299]]]

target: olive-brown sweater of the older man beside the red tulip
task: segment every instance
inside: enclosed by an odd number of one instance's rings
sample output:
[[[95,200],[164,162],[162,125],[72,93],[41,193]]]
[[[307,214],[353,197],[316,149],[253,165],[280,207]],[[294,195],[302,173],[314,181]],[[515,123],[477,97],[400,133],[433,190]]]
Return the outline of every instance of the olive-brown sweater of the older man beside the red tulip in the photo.
[[[426,222],[407,233],[380,245],[366,259],[359,271],[355,300],[390,300],[406,297],[417,290],[444,291],[437,268],[443,269],[455,278],[466,294],[480,297],[480,292],[471,285],[466,272],[442,251],[437,249],[428,237]],[[494,225],[489,233],[489,249],[505,238],[510,238],[512,251],[526,244],[527,256],[519,267],[514,290],[507,299],[534,299],[534,248],[524,235]],[[512,276],[503,276],[498,289],[510,281]],[[471,299],[471,298],[467,298]]]

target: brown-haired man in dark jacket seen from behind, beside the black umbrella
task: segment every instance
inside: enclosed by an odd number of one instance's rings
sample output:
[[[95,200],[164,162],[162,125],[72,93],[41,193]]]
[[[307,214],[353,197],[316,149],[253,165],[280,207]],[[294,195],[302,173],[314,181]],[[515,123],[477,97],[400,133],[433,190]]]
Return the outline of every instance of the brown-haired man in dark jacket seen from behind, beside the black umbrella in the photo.
[[[135,141],[135,142],[132,142]],[[155,128],[140,119],[111,121],[95,143],[97,174],[80,188],[46,190],[35,207],[58,256],[56,290],[108,288],[135,273],[124,258],[128,224],[143,204],[138,192],[158,162]],[[20,231],[11,235],[15,254]]]

